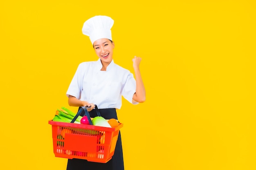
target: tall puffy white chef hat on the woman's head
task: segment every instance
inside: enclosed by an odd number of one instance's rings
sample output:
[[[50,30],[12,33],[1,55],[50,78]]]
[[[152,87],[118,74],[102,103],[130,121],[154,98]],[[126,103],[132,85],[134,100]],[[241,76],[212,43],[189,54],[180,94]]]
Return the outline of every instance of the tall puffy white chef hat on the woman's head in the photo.
[[[101,38],[108,38],[112,40],[111,28],[114,20],[108,16],[97,15],[94,16],[83,24],[82,32],[84,35],[89,36],[92,44],[94,41]]]

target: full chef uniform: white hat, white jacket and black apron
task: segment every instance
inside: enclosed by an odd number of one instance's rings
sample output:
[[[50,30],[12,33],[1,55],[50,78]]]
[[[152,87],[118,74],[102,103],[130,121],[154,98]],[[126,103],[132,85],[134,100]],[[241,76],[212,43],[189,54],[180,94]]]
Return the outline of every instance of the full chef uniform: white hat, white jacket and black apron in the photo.
[[[82,32],[89,36],[92,44],[101,38],[112,40],[110,29],[113,24],[112,18],[97,15],[83,24]],[[136,81],[130,71],[115,64],[114,60],[107,66],[106,71],[101,71],[101,68],[100,59],[79,64],[66,95],[96,104],[105,119],[118,119],[116,109],[121,108],[122,96],[130,103],[138,104],[132,101]],[[97,116],[95,109],[89,113],[90,117]],[[68,159],[67,170],[124,170],[121,133],[119,132],[115,153],[110,161],[96,163],[84,159]]]

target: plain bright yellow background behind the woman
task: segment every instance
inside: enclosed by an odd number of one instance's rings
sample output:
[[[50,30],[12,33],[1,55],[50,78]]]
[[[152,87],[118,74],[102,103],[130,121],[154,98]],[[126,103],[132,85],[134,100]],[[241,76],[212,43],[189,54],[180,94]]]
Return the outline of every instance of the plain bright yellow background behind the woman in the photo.
[[[0,2],[1,169],[64,170],[52,119],[79,63],[83,23],[115,20],[115,63],[142,57],[147,99],[118,110],[126,170],[255,170],[254,0]]]

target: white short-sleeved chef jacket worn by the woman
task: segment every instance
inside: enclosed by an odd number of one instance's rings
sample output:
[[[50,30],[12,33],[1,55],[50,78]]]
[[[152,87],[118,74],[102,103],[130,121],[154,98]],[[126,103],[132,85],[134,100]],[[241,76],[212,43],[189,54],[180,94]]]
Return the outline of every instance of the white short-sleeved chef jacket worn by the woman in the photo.
[[[101,71],[101,60],[82,62],[67,90],[67,97],[72,95],[82,101],[97,104],[98,108],[117,108],[122,105],[122,96],[132,104],[136,91],[133,74],[125,68],[110,62],[106,71]]]

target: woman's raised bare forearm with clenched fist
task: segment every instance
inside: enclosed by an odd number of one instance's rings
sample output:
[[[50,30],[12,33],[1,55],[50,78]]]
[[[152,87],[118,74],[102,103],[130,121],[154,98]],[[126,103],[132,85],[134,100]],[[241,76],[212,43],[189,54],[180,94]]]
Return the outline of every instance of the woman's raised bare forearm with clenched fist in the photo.
[[[132,99],[136,102],[143,103],[146,100],[146,90],[139,71],[139,64],[141,62],[141,58],[135,56],[132,61],[136,79],[136,92],[134,93]]]

